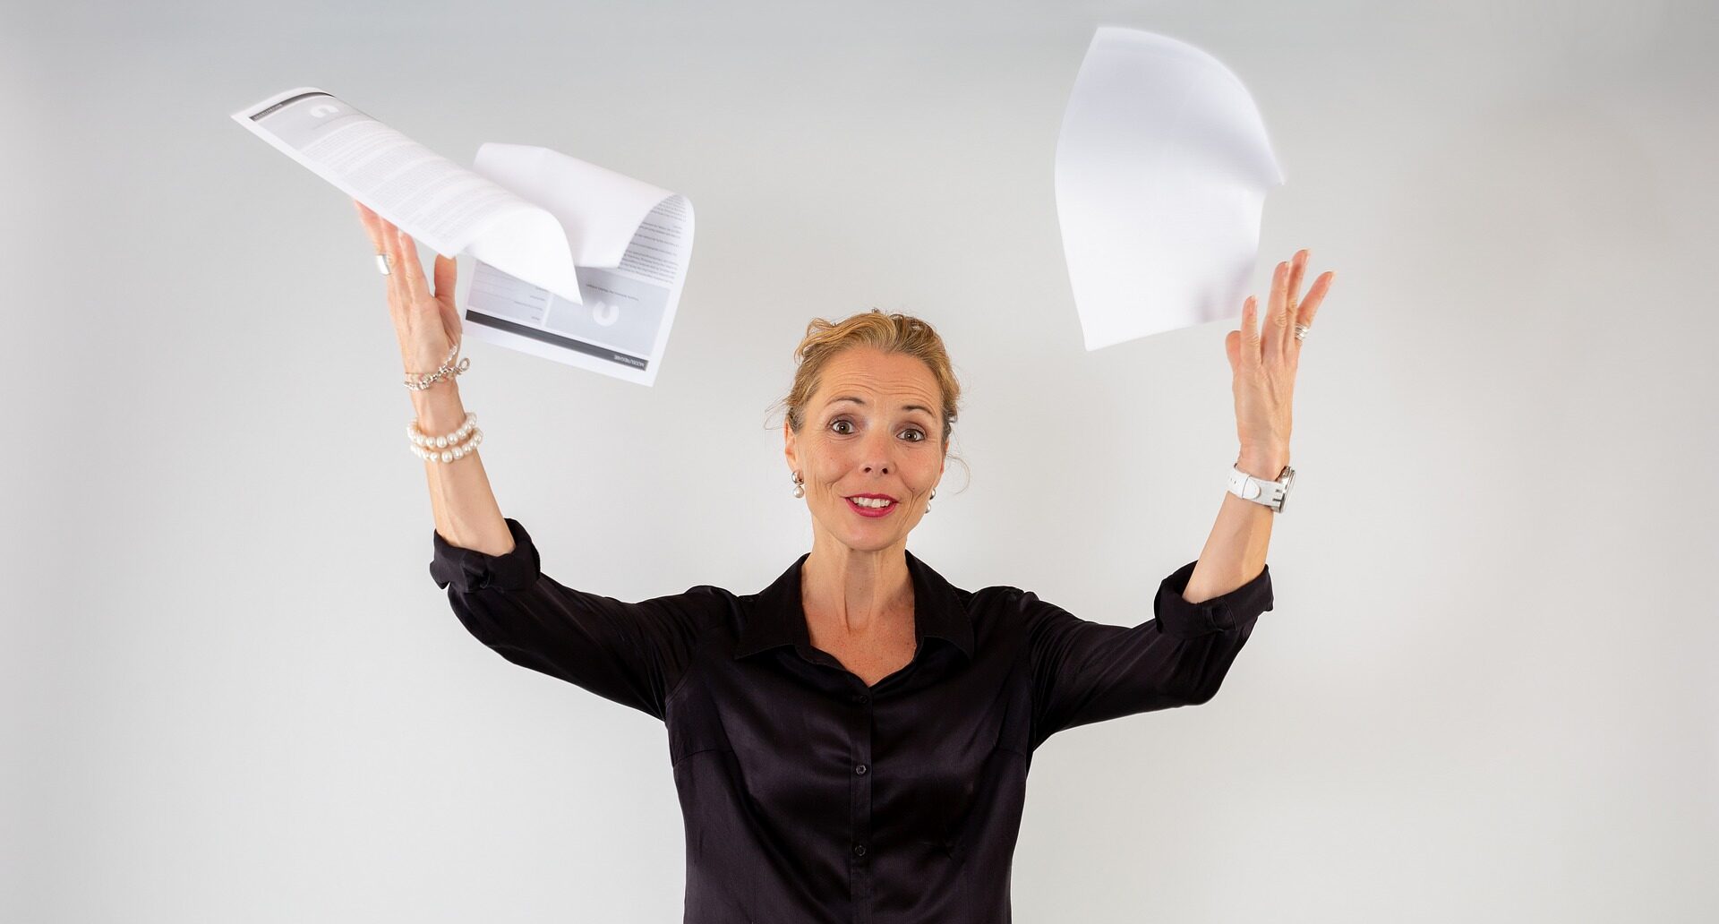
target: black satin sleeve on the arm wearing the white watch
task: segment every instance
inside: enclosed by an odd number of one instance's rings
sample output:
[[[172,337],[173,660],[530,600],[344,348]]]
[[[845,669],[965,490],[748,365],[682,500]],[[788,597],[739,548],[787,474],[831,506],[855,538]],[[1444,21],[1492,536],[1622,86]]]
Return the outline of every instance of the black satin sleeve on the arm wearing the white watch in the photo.
[[[1021,591],[1033,673],[1033,733],[1210,701],[1260,613],[1272,608],[1270,567],[1227,594],[1183,598],[1198,560],[1159,582],[1153,617],[1133,627],[1088,622]]]

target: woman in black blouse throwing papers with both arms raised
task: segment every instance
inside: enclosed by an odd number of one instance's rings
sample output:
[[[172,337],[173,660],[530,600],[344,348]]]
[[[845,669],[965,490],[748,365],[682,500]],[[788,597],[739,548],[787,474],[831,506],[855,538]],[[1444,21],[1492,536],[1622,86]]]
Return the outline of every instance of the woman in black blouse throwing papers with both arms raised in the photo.
[[[430,572],[502,658],[665,723],[688,924],[1009,921],[1033,751],[1076,725],[1208,701],[1272,608],[1274,510],[1229,495],[1200,558],[1135,627],[944,581],[906,543],[937,493],[959,386],[928,325],[875,309],[813,321],[796,350],[782,438],[811,551],[756,594],[622,603],[564,587],[469,452],[481,431],[452,381],[454,261],[437,258],[431,292],[411,237],[359,213],[392,264],[416,426],[452,440],[423,453]],[[1288,469],[1300,335],[1332,278],[1298,302],[1305,261],[1277,266],[1263,335],[1250,297],[1226,342],[1236,467],[1267,481]]]

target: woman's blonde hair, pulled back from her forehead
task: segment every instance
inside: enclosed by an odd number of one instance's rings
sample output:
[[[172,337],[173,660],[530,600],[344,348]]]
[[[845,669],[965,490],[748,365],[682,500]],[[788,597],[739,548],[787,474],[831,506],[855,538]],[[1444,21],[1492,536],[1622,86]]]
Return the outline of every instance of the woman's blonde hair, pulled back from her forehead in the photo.
[[[818,393],[823,368],[832,357],[853,347],[873,347],[925,362],[932,378],[937,380],[937,392],[942,397],[944,455],[949,455],[949,438],[954,435],[961,405],[961,383],[949,362],[944,338],[920,318],[899,313],[884,314],[877,307],[842,321],[813,318],[806,325],[806,337],[794,347],[794,385],[787,397],[779,402],[787,407],[787,426],[799,433],[806,422],[806,404]]]

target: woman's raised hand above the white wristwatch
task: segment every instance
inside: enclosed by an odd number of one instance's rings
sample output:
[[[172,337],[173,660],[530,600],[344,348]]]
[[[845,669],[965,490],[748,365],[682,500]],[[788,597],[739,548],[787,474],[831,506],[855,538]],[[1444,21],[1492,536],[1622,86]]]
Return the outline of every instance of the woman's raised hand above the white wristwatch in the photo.
[[[1241,306],[1241,330],[1229,331],[1224,350],[1234,373],[1236,436],[1241,459],[1236,465],[1253,476],[1275,479],[1289,464],[1289,405],[1294,398],[1294,373],[1301,357],[1296,325],[1313,325],[1318,302],[1331,290],[1336,273],[1325,271],[1300,299],[1306,251],[1298,251],[1272,273],[1270,306],[1263,325],[1253,295]]]

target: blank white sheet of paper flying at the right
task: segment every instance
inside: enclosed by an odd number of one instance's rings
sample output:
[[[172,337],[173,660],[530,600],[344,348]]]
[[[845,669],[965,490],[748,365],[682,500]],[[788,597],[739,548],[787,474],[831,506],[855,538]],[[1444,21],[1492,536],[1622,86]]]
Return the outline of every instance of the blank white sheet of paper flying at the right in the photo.
[[[1265,192],[1260,110],[1222,62],[1102,26],[1057,137],[1057,220],[1088,350],[1238,318]]]

